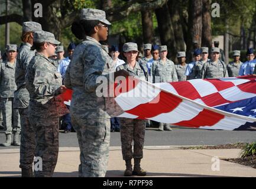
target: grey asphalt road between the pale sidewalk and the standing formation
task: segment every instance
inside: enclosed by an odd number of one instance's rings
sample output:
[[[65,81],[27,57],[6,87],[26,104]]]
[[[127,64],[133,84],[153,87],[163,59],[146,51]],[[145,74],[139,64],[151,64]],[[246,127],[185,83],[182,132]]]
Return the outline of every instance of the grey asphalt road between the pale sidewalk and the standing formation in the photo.
[[[76,133],[60,132],[60,147],[78,147]],[[0,143],[5,141],[0,133]],[[256,141],[256,131],[212,131],[206,129],[173,128],[173,131],[154,131],[147,129],[145,146],[161,145],[219,145],[236,142]],[[121,146],[120,133],[111,133],[111,146]],[[8,147],[18,148],[18,147]],[[0,149],[6,149],[1,147]]]

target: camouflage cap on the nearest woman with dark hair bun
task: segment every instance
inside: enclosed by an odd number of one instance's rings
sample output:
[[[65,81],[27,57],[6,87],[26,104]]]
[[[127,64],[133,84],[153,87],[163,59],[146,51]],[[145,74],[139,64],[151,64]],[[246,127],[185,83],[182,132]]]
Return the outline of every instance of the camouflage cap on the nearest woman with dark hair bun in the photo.
[[[111,25],[111,22],[109,22],[106,19],[106,13],[105,11],[99,10],[99,9],[93,9],[93,8],[83,8],[80,14],[80,19],[84,20],[98,20],[100,22],[103,22],[104,24]]]

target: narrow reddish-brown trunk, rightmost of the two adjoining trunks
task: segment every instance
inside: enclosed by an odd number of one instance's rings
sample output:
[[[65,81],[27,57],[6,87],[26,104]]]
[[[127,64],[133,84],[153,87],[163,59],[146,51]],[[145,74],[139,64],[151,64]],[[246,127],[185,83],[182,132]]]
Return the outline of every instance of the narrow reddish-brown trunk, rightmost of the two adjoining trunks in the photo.
[[[210,0],[202,0],[202,47],[212,47],[212,28],[210,21]]]

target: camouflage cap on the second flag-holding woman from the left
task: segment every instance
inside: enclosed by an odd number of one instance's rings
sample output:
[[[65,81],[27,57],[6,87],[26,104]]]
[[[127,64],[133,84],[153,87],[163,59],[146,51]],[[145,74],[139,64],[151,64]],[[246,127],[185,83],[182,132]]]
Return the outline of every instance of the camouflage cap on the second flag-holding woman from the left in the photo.
[[[52,44],[60,44],[60,41],[57,41],[54,37],[54,34],[48,31],[39,31],[34,33],[33,38],[34,43],[52,43]]]

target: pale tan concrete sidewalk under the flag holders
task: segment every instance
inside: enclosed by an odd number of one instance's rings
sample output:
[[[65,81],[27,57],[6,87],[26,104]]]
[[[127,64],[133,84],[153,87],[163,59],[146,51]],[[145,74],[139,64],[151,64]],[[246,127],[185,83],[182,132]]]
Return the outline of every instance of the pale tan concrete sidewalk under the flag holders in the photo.
[[[0,177],[20,177],[19,149],[0,150]],[[240,149],[179,149],[144,146],[141,167],[147,177],[256,177],[256,169],[223,161],[237,158]],[[60,148],[54,177],[77,177],[79,148]],[[218,159],[219,158],[219,159]],[[120,147],[111,147],[106,177],[123,177],[125,162]]]

